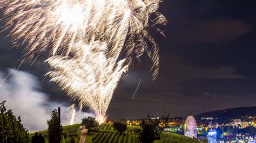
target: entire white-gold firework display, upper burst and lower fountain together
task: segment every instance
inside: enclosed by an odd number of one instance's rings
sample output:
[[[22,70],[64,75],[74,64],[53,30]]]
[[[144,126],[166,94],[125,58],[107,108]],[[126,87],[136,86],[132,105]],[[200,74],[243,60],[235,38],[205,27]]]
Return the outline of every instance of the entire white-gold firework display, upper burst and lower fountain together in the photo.
[[[28,45],[24,60],[49,51],[52,81],[105,120],[113,91],[135,60],[140,63],[146,53],[153,79],[158,75],[159,49],[149,29],[163,34],[158,26],[167,21],[157,11],[160,2],[15,1],[6,6],[2,20],[14,46]],[[118,60],[120,54],[123,60]]]

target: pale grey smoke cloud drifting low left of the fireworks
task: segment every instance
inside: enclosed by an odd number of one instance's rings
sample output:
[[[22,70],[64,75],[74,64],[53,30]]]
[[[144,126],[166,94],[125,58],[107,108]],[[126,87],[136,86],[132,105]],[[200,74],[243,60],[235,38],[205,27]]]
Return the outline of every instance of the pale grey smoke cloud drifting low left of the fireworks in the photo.
[[[11,70],[9,70],[10,72]],[[9,74],[9,73],[8,73]],[[0,71],[0,84],[6,77]],[[15,70],[0,86],[0,101],[6,101],[8,109],[12,109],[16,117],[21,116],[22,124],[28,130],[44,130],[48,128],[47,120],[51,118],[51,111],[61,109],[62,125],[68,125],[68,106],[57,102],[49,102],[49,95],[40,91],[37,77],[25,71]],[[78,111],[78,110],[77,110]],[[76,112],[74,124],[81,123],[81,118],[95,116],[93,113]]]

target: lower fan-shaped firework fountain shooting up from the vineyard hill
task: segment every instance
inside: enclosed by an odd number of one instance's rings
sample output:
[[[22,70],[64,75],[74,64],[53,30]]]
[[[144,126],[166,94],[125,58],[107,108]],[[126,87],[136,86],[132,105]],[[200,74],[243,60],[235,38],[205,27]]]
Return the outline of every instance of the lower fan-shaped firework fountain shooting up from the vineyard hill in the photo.
[[[126,59],[116,64],[117,59],[107,58],[106,43],[78,44],[76,50],[73,58],[59,55],[49,58],[53,70],[48,75],[74,100],[95,111],[97,121],[103,123],[113,92],[129,65],[125,65]]]

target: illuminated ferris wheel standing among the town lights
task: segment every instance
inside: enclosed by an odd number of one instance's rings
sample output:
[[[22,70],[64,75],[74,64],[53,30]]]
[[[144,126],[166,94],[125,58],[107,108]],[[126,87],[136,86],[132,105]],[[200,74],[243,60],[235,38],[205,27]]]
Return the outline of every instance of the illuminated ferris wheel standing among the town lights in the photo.
[[[197,121],[193,116],[188,116],[185,120],[184,135],[190,138],[197,138]]]

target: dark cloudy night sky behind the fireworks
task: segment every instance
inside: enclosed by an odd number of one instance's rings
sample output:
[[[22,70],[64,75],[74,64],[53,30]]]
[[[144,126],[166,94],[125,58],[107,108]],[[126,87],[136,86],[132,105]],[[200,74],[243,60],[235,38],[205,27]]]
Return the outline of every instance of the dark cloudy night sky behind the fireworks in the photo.
[[[134,67],[120,82],[107,114],[109,119],[159,115],[197,115],[238,106],[256,105],[256,1],[166,0],[160,12],[169,24],[166,38],[156,35],[160,47],[160,73],[152,81],[150,61]],[[22,48],[11,49],[0,36],[0,70],[14,68]],[[44,56],[19,70],[44,78]],[[133,101],[131,98],[142,79]],[[69,98],[46,78],[41,91],[49,100],[69,104]],[[86,110],[86,109],[84,109]]]

